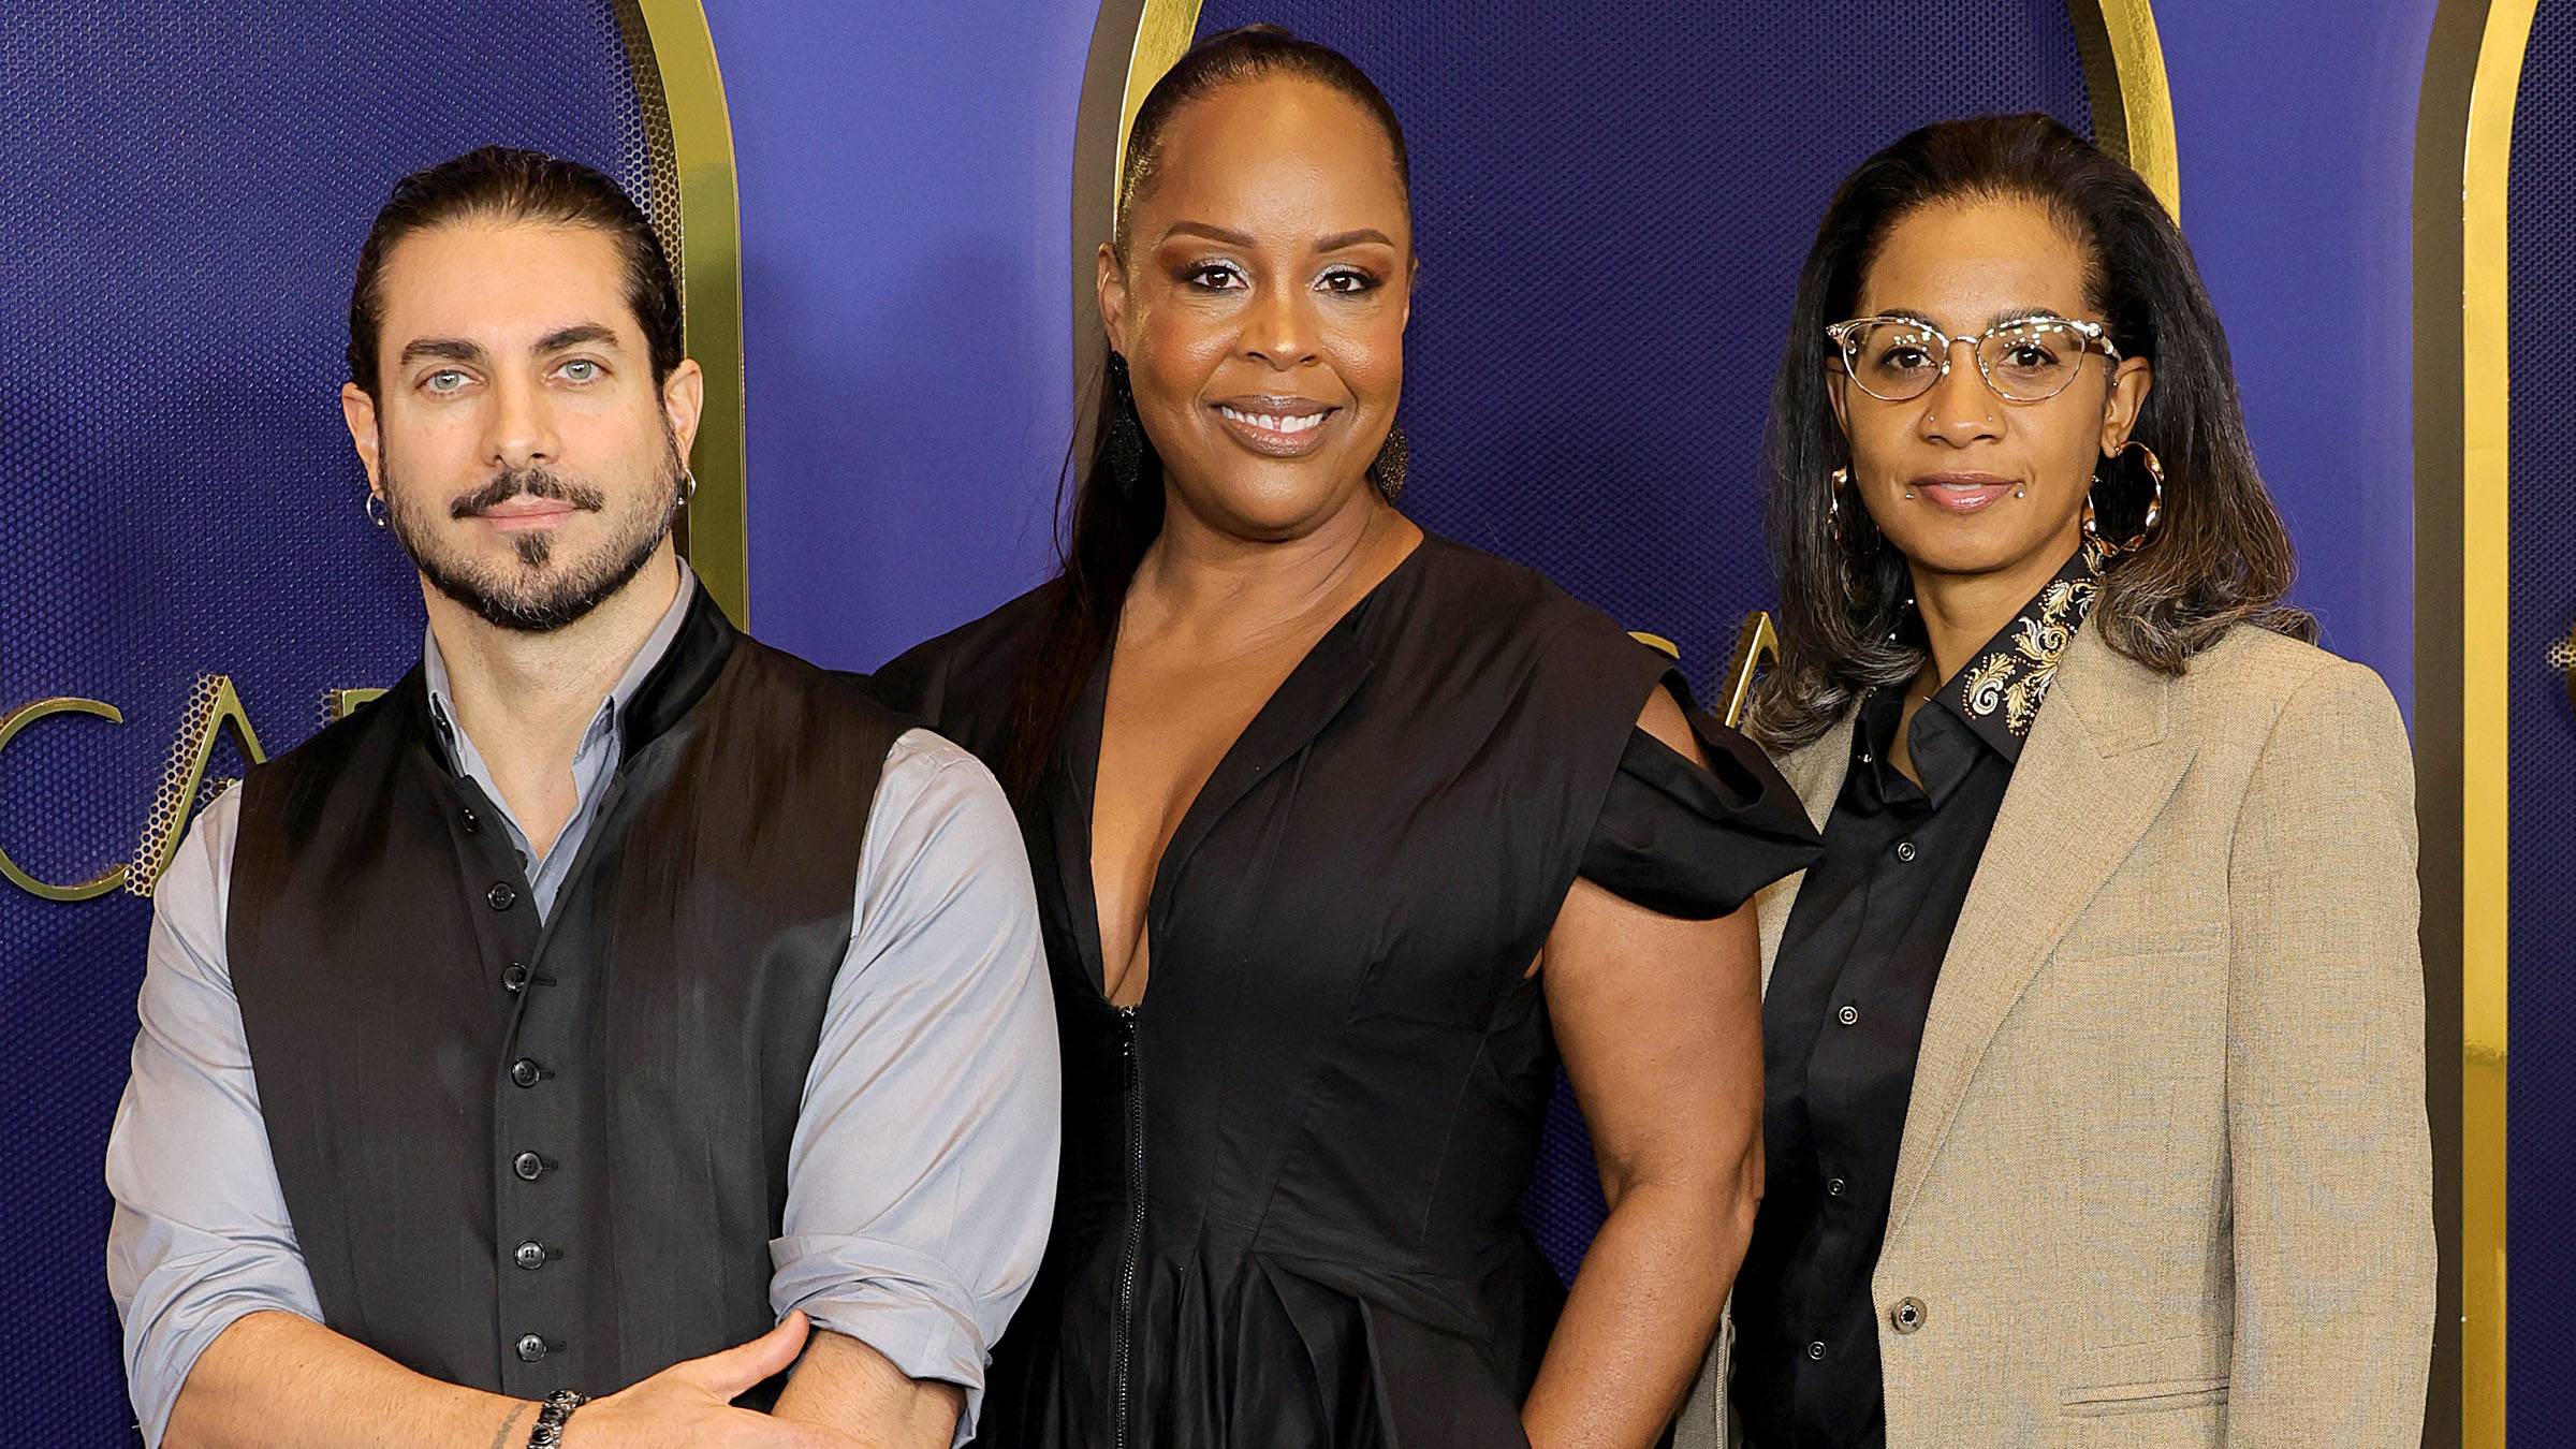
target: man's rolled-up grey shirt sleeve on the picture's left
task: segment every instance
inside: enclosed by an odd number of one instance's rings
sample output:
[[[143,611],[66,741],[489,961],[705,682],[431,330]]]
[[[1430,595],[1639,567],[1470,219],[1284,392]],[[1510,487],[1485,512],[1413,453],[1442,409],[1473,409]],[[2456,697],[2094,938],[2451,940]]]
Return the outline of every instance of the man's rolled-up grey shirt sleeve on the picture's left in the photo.
[[[237,815],[240,792],[209,804],[152,892],[134,1075],[108,1132],[108,1292],[147,1444],[162,1441],[198,1354],[234,1320],[322,1320],[224,959]]]

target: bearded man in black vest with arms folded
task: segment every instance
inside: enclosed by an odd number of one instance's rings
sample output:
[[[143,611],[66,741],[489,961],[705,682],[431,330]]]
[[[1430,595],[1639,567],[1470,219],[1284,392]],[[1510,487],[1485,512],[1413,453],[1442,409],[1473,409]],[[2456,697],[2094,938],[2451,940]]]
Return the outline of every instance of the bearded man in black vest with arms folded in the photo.
[[[1059,1132],[999,789],[677,559],[703,379],[608,178],[404,178],[348,364],[430,629],[157,890],[108,1142],[144,1439],[969,1436]]]

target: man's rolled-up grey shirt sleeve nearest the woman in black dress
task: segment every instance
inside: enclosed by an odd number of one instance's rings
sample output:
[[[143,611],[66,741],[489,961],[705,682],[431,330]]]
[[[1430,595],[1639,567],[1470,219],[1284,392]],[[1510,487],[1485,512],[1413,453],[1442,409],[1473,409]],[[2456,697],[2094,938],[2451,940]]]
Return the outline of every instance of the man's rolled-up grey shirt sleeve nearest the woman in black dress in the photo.
[[[868,815],[770,1305],[963,1387],[958,1444],[1046,1250],[1061,1091],[1018,820],[974,755],[912,730]]]

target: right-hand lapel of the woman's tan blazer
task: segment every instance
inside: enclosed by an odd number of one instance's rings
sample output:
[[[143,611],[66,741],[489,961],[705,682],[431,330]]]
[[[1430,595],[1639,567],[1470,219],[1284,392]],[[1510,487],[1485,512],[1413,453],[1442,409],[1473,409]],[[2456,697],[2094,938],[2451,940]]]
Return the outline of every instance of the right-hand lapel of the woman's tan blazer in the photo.
[[[1994,1031],[2192,763],[2195,748],[2172,735],[2169,709],[2172,681],[2097,634],[2066,647],[1932,990],[1896,1155],[1891,1243]]]

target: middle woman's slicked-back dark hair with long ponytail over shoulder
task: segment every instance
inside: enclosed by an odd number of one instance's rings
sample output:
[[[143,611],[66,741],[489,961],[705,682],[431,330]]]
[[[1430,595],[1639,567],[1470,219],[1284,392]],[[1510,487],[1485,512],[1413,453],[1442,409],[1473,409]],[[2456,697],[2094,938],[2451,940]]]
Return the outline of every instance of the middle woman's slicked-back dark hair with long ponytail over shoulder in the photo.
[[[1118,232],[1110,245],[1121,263],[1128,255],[1128,217],[1136,196],[1151,188],[1162,165],[1162,134],[1172,116],[1239,80],[1298,75],[1358,101],[1386,126],[1396,150],[1396,180],[1412,193],[1404,157],[1404,126],[1368,72],[1345,54],[1303,41],[1280,26],[1242,26],[1213,34],[1164,72],[1136,108],[1128,129],[1126,162],[1118,170]],[[1072,459],[1056,480],[1056,516],[1064,518],[1064,487]],[[1023,810],[1036,799],[1046,766],[1056,758],[1074,701],[1118,637],[1118,611],[1126,603],[1136,565],[1162,534],[1162,456],[1136,420],[1128,394],[1126,358],[1110,353],[1092,379],[1092,456],[1074,487],[1072,521],[1056,539],[1059,580],[1038,647],[1020,665],[1010,701],[1010,737],[1002,748],[1002,789]]]

